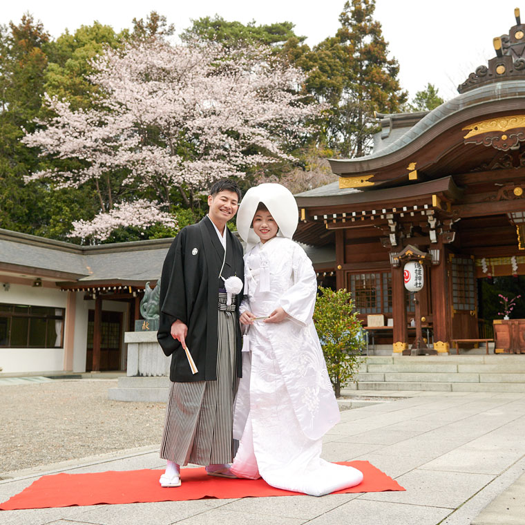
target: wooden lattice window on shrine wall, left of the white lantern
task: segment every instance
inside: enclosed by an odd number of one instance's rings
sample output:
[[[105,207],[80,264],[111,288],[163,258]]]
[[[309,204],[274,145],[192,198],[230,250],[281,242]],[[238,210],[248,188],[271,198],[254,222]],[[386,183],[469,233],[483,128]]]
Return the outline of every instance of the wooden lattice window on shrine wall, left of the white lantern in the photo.
[[[360,314],[392,312],[392,274],[377,271],[372,274],[350,274],[348,289]]]

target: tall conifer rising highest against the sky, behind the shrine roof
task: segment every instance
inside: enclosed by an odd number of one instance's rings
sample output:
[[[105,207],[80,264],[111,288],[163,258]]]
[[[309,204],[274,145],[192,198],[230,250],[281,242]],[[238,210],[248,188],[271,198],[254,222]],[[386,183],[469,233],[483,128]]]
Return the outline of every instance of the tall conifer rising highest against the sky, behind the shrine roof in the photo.
[[[308,72],[305,88],[330,104],[323,138],[343,157],[367,154],[376,131],[374,111],[394,113],[407,99],[374,9],[375,0],[347,1],[334,37],[313,50],[292,40],[285,44],[289,59]]]

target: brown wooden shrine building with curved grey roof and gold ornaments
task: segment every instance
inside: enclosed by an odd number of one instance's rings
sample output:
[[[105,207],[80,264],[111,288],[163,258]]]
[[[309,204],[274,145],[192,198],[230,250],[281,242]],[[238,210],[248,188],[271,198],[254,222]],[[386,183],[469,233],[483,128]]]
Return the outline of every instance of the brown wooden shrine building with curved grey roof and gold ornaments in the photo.
[[[514,323],[480,310],[482,280],[509,276],[525,288],[525,24],[519,10],[515,18],[457,97],[430,112],[377,114],[373,152],[330,160],[338,182],[296,195],[296,240],[335,246],[325,270],[393,354],[409,353],[418,330],[416,348],[443,354]],[[424,268],[415,295],[403,283],[408,260]],[[518,324],[496,352],[525,353]]]

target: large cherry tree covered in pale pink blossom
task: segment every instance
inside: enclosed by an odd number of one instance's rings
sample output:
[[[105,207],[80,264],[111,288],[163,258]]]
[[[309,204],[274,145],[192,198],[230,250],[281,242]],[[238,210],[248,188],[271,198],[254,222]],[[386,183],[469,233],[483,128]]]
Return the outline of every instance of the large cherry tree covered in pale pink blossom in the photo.
[[[53,117],[23,142],[44,169],[29,180],[55,187],[93,184],[99,213],[70,236],[104,240],[117,227],[173,227],[169,210],[218,178],[289,159],[323,106],[304,104],[305,77],[266,48],[225,52],[214,43],[161,39],[108,48],[93,61],[89,109],[46,97]]]

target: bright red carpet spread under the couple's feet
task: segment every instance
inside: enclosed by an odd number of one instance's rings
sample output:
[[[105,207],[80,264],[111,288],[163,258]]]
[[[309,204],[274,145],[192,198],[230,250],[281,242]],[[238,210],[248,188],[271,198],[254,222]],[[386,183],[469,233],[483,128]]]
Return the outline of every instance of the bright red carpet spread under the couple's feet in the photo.
[[[405,490],[368,461],[341,462],[361,470],[364,479],[358,486],[334,494]],[[21,493],[0,505],[0,510],[21,508],[70,507],[96,504],[178,502],[216,497],[296,496],[299,493],[269,486],[262,479],[227,479],[212,477],[204,468],[183,468],[182,486],[162,488],[162,470],[124,470],[90,474],[55,474],[43,476]]]

